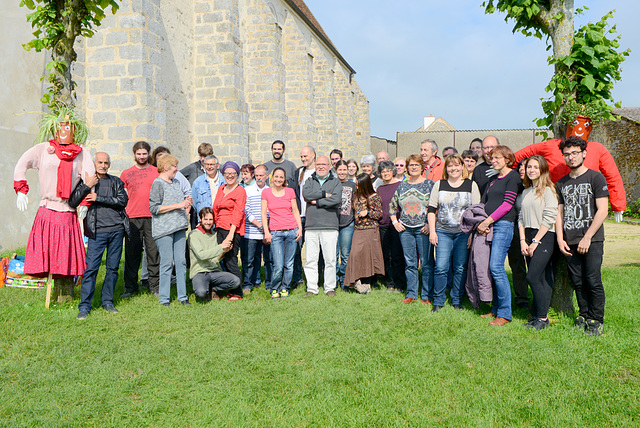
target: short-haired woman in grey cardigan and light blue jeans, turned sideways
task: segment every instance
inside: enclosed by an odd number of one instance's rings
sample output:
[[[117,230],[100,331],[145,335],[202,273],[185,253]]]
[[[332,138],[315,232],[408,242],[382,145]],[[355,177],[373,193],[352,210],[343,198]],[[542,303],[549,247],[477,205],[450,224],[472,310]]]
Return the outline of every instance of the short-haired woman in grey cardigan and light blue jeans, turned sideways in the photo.
[[[151,234],[160,253],[160,296],[163,306],[169,306],[171,296],[171,271],[176,266],[176,285],[178,300],[189,305],[187,296],[187,262],[185,260],[186,231],[188,213],[193,203],[185,197],[180,182],[175,176],[178,172],[178,159],[165,154],[157,160],[158,173],[151,186],[149,211],[151,211]]]

